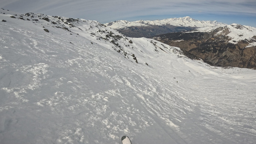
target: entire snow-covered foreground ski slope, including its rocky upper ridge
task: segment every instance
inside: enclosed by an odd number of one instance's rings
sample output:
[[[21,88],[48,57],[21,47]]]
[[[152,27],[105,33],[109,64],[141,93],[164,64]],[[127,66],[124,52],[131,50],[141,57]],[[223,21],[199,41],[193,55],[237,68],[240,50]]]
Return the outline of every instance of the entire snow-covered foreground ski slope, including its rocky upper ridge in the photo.
[[[2,19],[1,144],[255,143],[255,70],[211,67],[95,21],[1,9]]]

